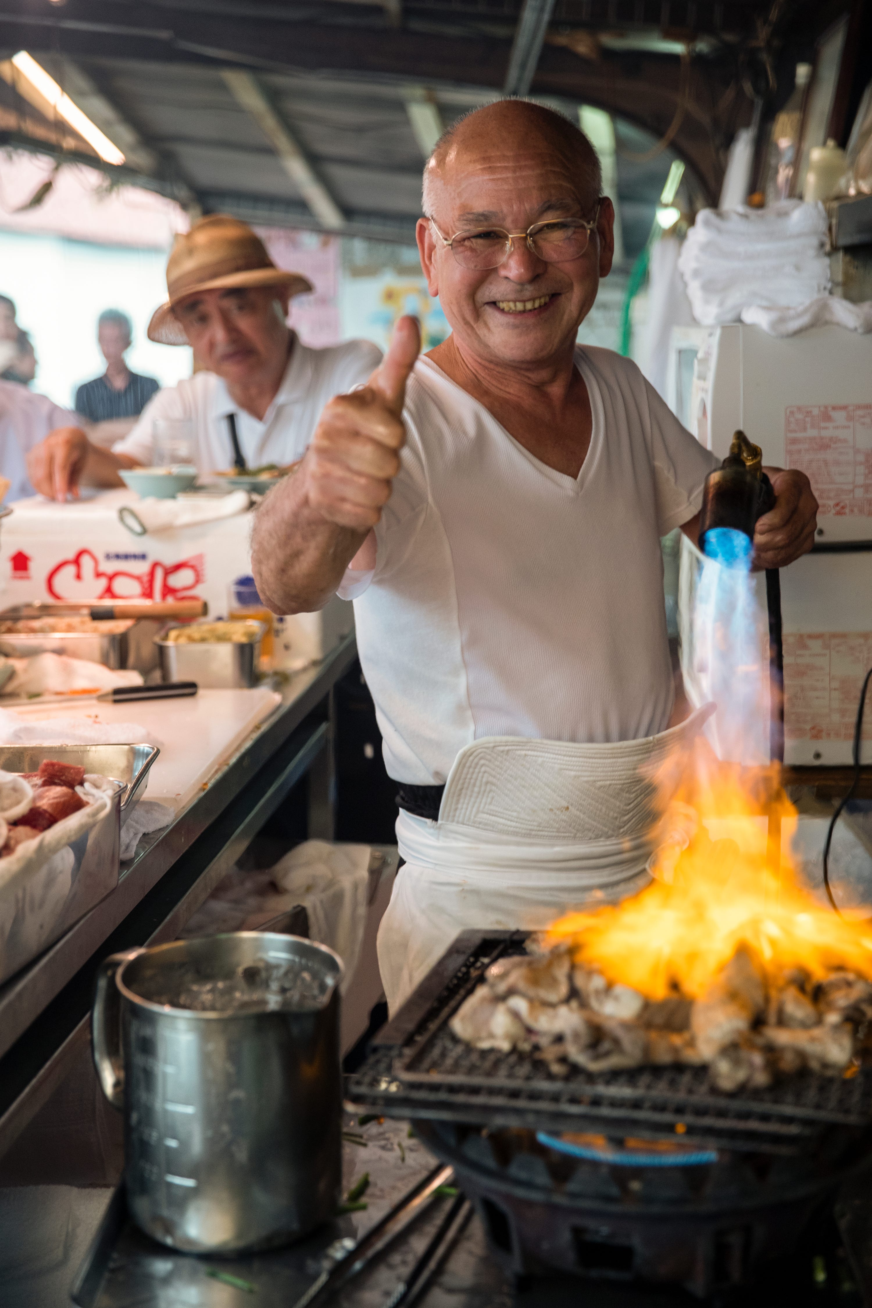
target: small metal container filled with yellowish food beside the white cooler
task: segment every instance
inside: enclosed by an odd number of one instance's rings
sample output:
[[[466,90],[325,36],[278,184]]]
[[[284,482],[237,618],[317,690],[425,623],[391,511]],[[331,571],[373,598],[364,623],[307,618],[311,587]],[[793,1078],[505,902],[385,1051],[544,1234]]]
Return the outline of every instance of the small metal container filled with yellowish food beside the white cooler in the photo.
[[[258,684],[265,627],[252,619],[170,627],[154,644],[165,681],[196,681],[204,691]]]

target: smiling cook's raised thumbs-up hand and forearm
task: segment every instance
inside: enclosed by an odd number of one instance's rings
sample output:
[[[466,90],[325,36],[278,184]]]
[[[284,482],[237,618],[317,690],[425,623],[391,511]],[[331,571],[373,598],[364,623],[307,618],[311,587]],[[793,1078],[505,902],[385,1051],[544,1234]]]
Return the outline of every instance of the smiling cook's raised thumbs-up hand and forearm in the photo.
[[[258,509],[251,568],[273,612],[322,608],[358,555],[361,568],[374,566],[370,532],[400,470],[405,383],[420,348],[417,320],[400,318],[366,386],[326,405],[298,471]]]

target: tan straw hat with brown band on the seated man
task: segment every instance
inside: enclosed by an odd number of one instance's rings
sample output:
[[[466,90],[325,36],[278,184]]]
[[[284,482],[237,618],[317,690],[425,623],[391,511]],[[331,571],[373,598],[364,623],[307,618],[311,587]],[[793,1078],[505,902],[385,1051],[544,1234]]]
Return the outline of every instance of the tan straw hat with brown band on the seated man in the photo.
[[[149,340],[162,345],[187,345],[174,306],[197,290],[224,290],[229,286],[288,286],[292,296],[311,290],[298,272],[277,268],[267,249],[246,222],[226,213],[210,213],[195,222],[186,235],[178,235],[166,264],[169,300],[152,314]]]

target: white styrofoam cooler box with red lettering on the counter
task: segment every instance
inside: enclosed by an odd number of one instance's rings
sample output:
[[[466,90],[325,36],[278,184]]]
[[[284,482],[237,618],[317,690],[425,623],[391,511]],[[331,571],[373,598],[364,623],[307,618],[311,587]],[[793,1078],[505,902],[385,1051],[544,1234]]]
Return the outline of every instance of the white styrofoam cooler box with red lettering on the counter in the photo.
[[[118,510],[137,501],[127,489],[84,490],[69,504],[18,500],[0,532],[0,608],[195,596],[213,617],[225,616],[227,583],[251,572],[252,514],[135,536]],[[278,666],[302,667],[354,629],[353,606],[332,599],[322,612],[280,619],[278,628]]]

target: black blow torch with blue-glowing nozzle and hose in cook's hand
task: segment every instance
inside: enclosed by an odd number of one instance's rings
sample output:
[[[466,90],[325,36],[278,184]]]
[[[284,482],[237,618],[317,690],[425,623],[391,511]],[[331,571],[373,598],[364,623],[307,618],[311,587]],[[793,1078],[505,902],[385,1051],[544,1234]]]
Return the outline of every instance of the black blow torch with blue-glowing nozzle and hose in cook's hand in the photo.
[[[699,549],[728,568],[749,568],[757,519],[775,504],[773,484],[763,472],[763,455],[744,432],[735,432],[729,454],[710,472],[702,489]],[[784,662],[782,650],[782,591],[777,568],[766,569],[769,615],[769,752],[784,761]],[[777,802],[769,815],[767,857],[780,865],[780,816]]]

